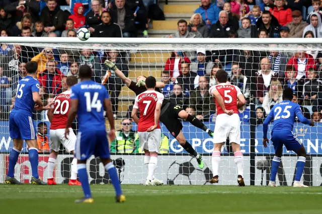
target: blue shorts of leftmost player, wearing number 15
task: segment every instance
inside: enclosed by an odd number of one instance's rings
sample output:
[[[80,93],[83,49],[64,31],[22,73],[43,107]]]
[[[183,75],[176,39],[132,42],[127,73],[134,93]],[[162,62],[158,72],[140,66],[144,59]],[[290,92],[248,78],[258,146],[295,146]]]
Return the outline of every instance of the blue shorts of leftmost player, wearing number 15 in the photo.
[[[9,132],[12,139],[36,140],[37,132],[31,116],[11,113],[9,116]]]

